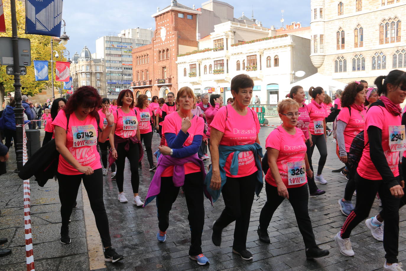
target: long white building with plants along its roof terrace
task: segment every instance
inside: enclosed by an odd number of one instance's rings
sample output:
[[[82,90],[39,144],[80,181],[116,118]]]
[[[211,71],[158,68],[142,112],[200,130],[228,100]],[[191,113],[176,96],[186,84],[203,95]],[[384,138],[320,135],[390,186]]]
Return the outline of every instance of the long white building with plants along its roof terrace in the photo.
[[[310,28],[295,24],[295,29],[268,29],[257,25],[225,22],[214,26],[214,32],[199,40],[199,50],[178,55],[178,85],[194,93],[222,94],[231,98],[231,79],[248,74],[254,80],[254,94],[262,104],[276,104],[289,93],[288,86],[317,69],[309,57],[310,40],[296,36],[309,35]],[[287,32],[287,31],[286,31]],[[306,34],[307,33],[307,34]]]

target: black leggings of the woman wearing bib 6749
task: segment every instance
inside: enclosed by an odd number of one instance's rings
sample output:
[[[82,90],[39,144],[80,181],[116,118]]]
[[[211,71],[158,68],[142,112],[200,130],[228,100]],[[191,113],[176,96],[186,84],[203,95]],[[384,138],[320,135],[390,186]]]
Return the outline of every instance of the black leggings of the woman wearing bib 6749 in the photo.
[[[138,175],[138,161],[140,156],[140,150],[138,144],[130,143],[130,149],[128,152],[125,151],[124,147],[127,142],[117,144],[117,175],[116,182],[119,189],[119,193],[123,192],[124,184],[124,165],[125,157],[130,161],[130,171],[131,171],[131,185],[132,192],[138,193],[138,186],[140,186],[140,176]]]

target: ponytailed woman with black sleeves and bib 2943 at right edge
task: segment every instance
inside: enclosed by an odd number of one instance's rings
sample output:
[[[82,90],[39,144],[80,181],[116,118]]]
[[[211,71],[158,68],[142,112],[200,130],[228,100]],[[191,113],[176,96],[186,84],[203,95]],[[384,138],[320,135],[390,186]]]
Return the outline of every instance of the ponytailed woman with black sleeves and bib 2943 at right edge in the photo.
[[[397,258],[399,243],[399,206],[404,195],[404,180],[399,173],[400,151],[405,150],[405,126],[399,104],[406,96],[406,73],[392,70],[387,76],[378,76],[378,100],[368,109],[365,118],[364,141],[366,143],[355,173],[356,206],[334,237],[341,254],[354,256],[351,247],[351,231],[368,217],[376,192],[382,200],[385,227],[383,247],[386,262],[384,270],[402,270]],[[351,113],[352,114],[352,113]],[[377,230],[380,221],[369,218],[365,224]],[[376,256],[379,258],[379,256]]]

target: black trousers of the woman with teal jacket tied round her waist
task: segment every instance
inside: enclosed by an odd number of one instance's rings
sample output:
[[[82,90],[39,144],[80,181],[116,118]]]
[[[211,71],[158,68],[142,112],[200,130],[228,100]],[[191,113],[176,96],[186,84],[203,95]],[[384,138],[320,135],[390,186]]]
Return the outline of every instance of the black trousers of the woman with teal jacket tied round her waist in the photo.
[[[221,193],[225,209],[214,223],[213,228],[222,230],[235,221],[233,249],[246,249],[247,233],[250,224],[257,173],[239,178],[227,177]]]

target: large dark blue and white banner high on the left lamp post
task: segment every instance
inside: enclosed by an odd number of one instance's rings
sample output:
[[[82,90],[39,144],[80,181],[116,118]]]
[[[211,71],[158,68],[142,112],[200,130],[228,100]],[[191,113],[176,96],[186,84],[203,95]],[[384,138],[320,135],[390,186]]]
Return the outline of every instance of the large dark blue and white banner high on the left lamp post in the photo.
[[[26,34],[60,37],[63,0],[26,0]]]

